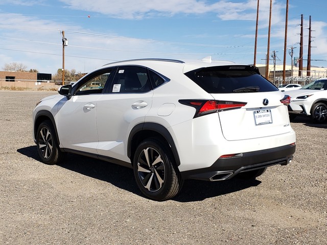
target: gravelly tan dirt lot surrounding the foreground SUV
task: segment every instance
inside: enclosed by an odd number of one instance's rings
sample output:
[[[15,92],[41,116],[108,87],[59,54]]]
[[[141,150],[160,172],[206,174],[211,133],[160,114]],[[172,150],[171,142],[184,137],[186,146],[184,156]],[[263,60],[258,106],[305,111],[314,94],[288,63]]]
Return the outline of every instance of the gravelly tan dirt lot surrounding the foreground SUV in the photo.
[[[32,110],[54,93],[0,91],[0,244],[327,244],[326,124],[295,119],[294,160],[255,181],[189,180],[154,202],[131,169],[39,161]]]

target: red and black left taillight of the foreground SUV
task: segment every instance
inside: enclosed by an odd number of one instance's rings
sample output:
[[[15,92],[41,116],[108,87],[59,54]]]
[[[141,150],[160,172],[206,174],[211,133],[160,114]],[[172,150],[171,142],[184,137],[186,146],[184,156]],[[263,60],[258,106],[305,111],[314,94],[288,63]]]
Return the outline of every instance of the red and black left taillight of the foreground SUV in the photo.
[[[246,105],[245,102],[236,101],[179,100],[179,103],[194,107],[196,109],[194,117],[211,114],[218,111],[238,109]]]

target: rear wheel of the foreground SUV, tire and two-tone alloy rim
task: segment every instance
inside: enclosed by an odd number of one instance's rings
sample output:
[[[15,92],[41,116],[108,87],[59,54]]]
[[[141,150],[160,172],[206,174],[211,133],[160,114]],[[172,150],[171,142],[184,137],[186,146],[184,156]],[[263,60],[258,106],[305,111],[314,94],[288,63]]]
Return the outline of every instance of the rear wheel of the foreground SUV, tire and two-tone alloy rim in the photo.
[[[182,188],[183,180],[171,151],[157,139],[147,139],[138,145],[133,167],[138,188],[152,200],[171,199]]]

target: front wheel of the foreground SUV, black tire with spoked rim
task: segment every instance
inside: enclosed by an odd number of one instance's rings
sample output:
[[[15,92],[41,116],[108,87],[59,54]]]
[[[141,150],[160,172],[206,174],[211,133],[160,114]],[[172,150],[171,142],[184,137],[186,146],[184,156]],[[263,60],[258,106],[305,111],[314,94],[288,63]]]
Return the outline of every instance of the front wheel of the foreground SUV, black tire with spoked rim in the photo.
[[[45,120],[39,125],[36,145],[41,161],[45,164],[57,164],[64,156],[64,153],[59,149],[55,130],[50,120]]]

